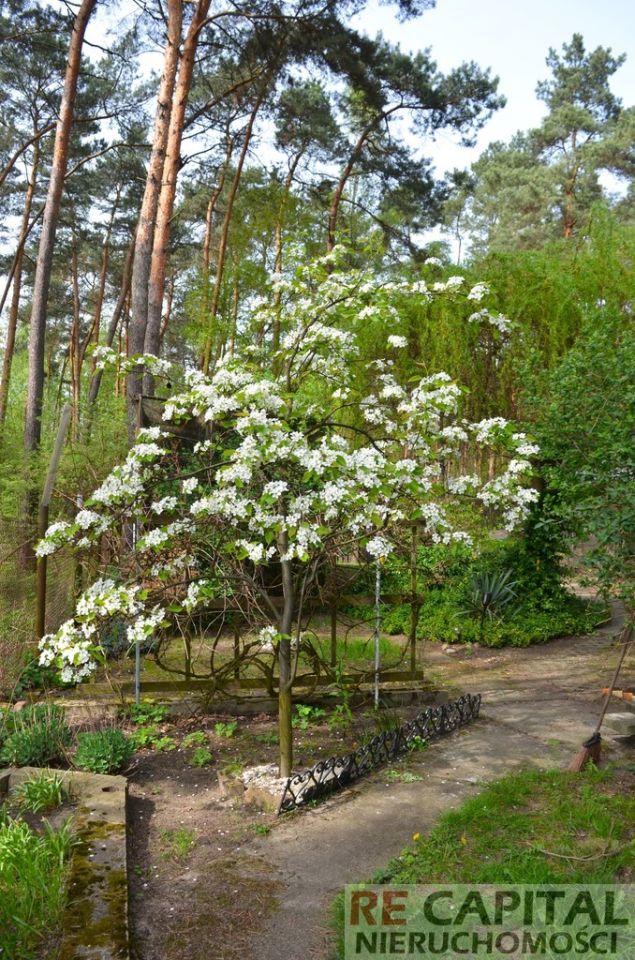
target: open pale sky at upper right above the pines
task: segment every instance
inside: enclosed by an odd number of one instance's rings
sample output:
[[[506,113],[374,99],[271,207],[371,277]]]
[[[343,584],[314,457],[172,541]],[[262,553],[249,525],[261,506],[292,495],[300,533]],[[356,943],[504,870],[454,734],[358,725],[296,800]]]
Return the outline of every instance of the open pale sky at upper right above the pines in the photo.
[[[481,131],[478,145],[468,149],[441,134],[425,153],[434,158],[439,173],[467,167],[494,140],[509,140],[517,130],[536,126],[544,105],[535,95],[546,79],[549,47],[581,33],[587,50],[610,47],[627,60],[614,74],[611,88],[624,106],[635,104],[635,3],[633,0],[437,0],[434,10],[417,20],[398,23],[391,10],[371,0],[355,21],[358,29],[384,36],[404,51],[432,48],[439,68],[448,71],[464,60],[491,67],[500,78],[507,106]]]

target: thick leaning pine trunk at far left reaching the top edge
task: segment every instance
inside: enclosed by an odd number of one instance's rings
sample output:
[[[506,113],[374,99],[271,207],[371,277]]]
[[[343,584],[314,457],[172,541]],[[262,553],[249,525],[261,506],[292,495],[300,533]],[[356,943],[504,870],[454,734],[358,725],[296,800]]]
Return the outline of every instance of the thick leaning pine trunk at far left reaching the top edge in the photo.
[[[60,103],[59,120],[55,131],[53,160],[51,163],[51,177],[46,197],[46,207],[42,222],[42,233],[35,265],[35,281],[31,306],[31,322],[29,326],[29,373],[27,386],[26,414],[24,420],[24,449],[27,458],[35,453],[40,446],[42,436],[42,405],[44,401],[44,353],[46,335],[46,311],[51,286],[51,270],[53,266],[53,248],[57,233],[64,177],[68,164],[68,148],[73,125],[75,98],[77,95],[77,80],[81,66],[82,46],[84,34],[90,15],[97,0],[82,0],[82,4],[75,17],[73,32],[68,49],[64,90]],[[37,496],[33,483],[27,481],[27,494],[24,504],[27,535],[24,537],[26,546],[21,553],[24,566],[33,564],[31,538],[34,533],[33,520],[37,510]]]

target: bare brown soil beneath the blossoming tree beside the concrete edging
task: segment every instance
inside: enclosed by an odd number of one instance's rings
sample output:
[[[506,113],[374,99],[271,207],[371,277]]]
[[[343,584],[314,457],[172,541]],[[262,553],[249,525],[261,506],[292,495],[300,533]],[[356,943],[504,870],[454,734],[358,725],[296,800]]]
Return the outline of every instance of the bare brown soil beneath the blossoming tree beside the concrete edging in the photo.
[[[248,944],[278,904],[284,885],[257,840],[281,821],[223,796],[218,782],[227,765],[238,770],[276,761],[276,722],[265,714],[239,717],[233,736],[216,734],[214,724],[227,719],[162,724],[159,732],[179,746],[136,755],[128,802],[135,960],[245,960],[251,956]],[[296,767],[352,749],[368,731],[368,718],[359,715],[355,726],[357,733],[346,737],[324,722],[298,730]],[[182,746],[193,731],[206,734],[209,766],[192,766],[195,748]]]

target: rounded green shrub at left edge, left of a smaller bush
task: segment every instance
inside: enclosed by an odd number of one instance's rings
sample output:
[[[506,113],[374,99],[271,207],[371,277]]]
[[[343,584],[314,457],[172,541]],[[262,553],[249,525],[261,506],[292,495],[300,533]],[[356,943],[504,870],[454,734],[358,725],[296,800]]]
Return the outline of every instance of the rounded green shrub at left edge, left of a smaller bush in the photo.
[[[71,742],[60,707],[37,704],[0,720],[0,763],[46,767],[59,763]]]

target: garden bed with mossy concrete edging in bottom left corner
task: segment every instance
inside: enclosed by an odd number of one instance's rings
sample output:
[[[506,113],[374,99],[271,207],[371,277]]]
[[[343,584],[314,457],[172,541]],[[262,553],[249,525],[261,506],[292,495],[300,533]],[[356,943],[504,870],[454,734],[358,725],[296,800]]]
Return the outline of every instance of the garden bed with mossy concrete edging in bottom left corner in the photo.
[[[59,785],[48,819],[18,798]],[[34,789],[34,787],[36,789]],[[126,781],[42,768],[0,772],[11,819],[0,844],[0,945],[12,960],[126,960]],[[13,819],[15,813],[18,819]],[[0,830],[3,829],[0,827]],[[12,922],[7,922],[10,918]],[[18,921],[16,923],[16,920]],[[6,940],[6,943],[3,942]]]

